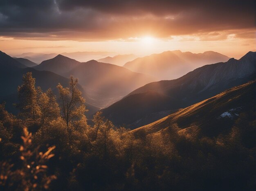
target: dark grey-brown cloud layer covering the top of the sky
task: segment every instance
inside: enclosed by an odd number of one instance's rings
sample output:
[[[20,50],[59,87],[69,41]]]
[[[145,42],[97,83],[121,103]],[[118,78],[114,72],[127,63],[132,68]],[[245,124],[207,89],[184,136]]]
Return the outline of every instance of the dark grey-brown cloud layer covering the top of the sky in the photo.
[[[0,1],[0,35],[17,38],[168,37],[254,26],[254,0]]]

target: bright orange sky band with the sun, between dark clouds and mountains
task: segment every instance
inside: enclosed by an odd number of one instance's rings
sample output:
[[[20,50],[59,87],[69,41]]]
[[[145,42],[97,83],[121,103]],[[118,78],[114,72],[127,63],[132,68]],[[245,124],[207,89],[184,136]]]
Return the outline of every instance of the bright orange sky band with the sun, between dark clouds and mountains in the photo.
[[[202,39],[204,38],[204,39]],[[211,39],[213,38],[213,39]],[[214,39],[217,38],[217,39]],[[229,57],[240,58],[249,50],[255,50],[255,38],[240,38],[227,35],[218,39],[211,35],[177,35],[170,38],[155,38],[145,35],[122,40],[103,40],[97,42],[81,42],[76,40],[22,40],[13,37],[0,37],[0,50],[10,55],[26,52],[63,53],[77,51],[108,51],[117,54],[134,53],[149,55],[166,50],[182,50],[202,53],[213,50]]]

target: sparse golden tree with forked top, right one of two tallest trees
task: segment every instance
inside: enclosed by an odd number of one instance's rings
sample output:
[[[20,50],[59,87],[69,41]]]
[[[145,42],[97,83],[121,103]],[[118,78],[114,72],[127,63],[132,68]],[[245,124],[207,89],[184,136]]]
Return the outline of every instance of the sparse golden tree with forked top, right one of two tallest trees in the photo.
[[[69,88],[63,88],[60,83],[57,86],[60,95],[62,117],[67,124],[67,131],[70,136],[74,131],[74,127],[70,123],[72,124],[83,119],[84,113],[87,111],[84,105],[85,99],[83,99],[82,93],[76,87],[77,83],[78,79],[74,80],[73,76],[70,76]]]

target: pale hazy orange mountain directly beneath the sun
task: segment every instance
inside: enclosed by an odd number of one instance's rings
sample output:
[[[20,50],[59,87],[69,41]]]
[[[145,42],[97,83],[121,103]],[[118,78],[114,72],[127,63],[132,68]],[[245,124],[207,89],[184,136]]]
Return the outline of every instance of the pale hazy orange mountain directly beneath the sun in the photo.
[[[152,54],[127,62],[124,67],[157,77],[159,80],[176,79],[205,64],[227,61],[229,57],[207,51],[204,53],[181,52],[180,50]]]

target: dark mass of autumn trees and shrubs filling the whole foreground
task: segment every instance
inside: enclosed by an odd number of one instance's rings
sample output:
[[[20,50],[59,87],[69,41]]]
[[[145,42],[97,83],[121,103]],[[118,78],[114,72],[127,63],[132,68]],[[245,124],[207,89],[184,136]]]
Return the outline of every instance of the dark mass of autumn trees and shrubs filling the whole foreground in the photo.
[[[255,190],[255,110],[214,136],[171,121],[134,133],[101,112],[88,125],[76,85],[55,97],[27,73],[19,114],[0,105],[0,190]]]

